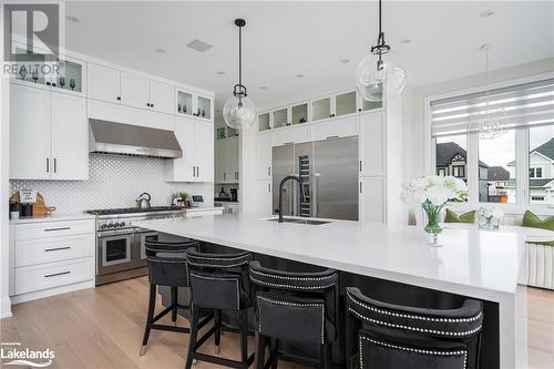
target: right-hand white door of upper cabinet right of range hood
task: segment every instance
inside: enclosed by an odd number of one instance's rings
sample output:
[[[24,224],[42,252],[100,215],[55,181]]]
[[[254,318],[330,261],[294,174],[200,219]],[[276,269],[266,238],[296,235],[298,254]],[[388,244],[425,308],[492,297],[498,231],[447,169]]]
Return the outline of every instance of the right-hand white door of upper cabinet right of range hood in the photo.
[[[214,182],[214,124],[196,122],[196,182]]]

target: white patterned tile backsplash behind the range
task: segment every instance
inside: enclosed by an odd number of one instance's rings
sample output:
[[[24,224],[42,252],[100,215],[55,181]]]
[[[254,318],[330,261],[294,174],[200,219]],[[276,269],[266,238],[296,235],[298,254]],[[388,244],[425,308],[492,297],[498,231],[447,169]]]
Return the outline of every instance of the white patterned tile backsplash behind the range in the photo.
[[[213,183],[166,182],[164,162],[153,157],[91,154],[89,181],[11,180],[10,195],[23,188],[37,189],[44,196],[47,206],[57,207],[57,213],[135,206],[135,198],[143,192],[152,196],[152,206],[170,205],[177,191],[203,195],[205,205],[213,205]]]

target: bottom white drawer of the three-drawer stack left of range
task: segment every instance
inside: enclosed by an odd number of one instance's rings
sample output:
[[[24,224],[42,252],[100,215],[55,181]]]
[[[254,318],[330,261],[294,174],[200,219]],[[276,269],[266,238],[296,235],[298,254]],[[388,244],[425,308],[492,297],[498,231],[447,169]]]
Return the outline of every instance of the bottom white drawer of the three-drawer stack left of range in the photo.
[[[16,268],[16,295],[93,278],[92,257]]]

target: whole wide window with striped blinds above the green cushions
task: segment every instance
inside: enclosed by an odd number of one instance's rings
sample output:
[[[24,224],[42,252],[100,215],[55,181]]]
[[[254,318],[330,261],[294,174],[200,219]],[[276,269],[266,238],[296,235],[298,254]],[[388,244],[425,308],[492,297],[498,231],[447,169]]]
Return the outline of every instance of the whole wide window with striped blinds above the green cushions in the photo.
[[[463,178],[469,202],[554,205],[554,79],[485,88],[430,102],[438,175]],[[480,136],[474,116],[505,112],[506,132]]]

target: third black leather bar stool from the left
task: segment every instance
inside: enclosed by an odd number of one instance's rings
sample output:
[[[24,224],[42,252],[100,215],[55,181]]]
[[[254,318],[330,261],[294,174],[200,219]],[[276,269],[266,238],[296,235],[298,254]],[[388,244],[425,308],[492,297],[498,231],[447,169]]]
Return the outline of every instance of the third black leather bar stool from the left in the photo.
[[[331,344],[340,334],[338,273],[290,273],[261,267],[258,262],[250,263],[249,271],[256,286],[256,369],[276,368],[279,359],[330,368]],[[319,361],[285,356],[279,350],[281,341],[319,346]]]

